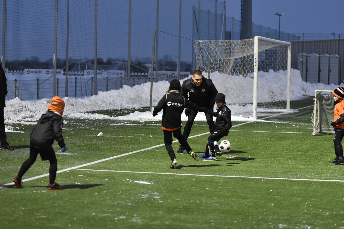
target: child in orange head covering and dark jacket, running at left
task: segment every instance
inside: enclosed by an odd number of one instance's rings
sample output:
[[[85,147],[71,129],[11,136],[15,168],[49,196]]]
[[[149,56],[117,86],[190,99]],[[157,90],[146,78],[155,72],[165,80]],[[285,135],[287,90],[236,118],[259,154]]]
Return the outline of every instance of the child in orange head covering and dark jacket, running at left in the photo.
[[[42,114],[36,126],[30,133],[30,156],[22,164],[18,175],[13,179],[15,185],[22,186],[22,176],[29,170],[31,165],[35,163],[37,155],[40,154],[43,161],[49,160],[49,190],[62,189],[61,185],[55,183],[57,172],[57,160],[53,149],[54,140],[62,148],[61,152],[67,150],[62,136],[62,114],[65,103],[58,96],[52,98],[48,110]]]

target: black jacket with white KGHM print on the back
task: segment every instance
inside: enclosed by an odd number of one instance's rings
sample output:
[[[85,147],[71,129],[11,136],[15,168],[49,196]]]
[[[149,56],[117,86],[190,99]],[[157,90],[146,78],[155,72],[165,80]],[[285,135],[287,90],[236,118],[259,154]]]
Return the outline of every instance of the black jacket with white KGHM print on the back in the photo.
[[[153,116],[157,115],[162,109],[162,126],[169,129],[179,128],[182,124],[180,118],[185,107],[190,107],[194,110],[205,112],[206,108],[197,106],[190,102],[179,92],[171,92],[165,94],[159,101],[158,105],[153,110]]]

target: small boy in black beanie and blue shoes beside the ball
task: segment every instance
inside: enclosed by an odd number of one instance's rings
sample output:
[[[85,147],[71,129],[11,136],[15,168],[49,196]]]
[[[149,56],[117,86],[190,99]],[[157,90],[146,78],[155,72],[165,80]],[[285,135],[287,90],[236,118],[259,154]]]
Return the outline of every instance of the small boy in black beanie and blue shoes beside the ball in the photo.
[[[215,97],[217,105],[217,112],[208,111],[211,116],[216,117],[215,131],[208,137],[208,144],[205,148],[205,153],[198,158],[204,158],[203,161],[216,161],[214,141],[219,141],[224,136],[228,135],[229,129],[232,127],[232,114],[226,106],[226,96],[218,93]]]

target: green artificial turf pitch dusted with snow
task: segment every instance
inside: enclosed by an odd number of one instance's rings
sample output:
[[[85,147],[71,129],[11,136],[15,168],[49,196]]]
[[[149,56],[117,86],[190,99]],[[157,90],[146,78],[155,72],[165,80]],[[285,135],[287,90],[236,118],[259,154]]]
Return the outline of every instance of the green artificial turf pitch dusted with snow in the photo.
[[[9,184],[29,156],[35,123],[11,124],[20,132],[7,133],[15,151],[0,151],[0,227],[344,228],[344,166],[329,163],[333,135],[311,135],[312,104],[292,101],[296,112],[234,121],[224,138],[231,151],[216,162],[176,155],[175,170],[160,121],[66,118],[67,152],[54,143],[63,190],[47,189],[49,162],[40,156],[22,188]],[[204,152],[207,132],[205,122],[194,123],[195,153]]]

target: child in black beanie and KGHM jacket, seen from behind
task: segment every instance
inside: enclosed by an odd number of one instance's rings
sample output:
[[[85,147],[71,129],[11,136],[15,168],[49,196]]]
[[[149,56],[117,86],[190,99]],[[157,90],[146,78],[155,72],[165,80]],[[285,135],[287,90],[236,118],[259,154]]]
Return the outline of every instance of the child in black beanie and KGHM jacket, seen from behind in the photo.
[[[173,136],[178,139],[179,143],[184,147],[186,152],[198,160],[197,154],[195,154],[186,139],[183,137],[181,132],[181,114],[185,107],[190,107],[197,111],[205,112],[206,108],[197,106],[190,102],[188,99],[181,95],[180,82],[177,79],[171,80],[169,90],[160,99],[158,105],[153,110],[153,116],[156,116],[161,110],[162,111],[162,129],[164,132],[164,144],[167,152],[171,158],[170,168],[175,168],[178,161],[175,158],[175,154],[172,148],[172,133]]]

